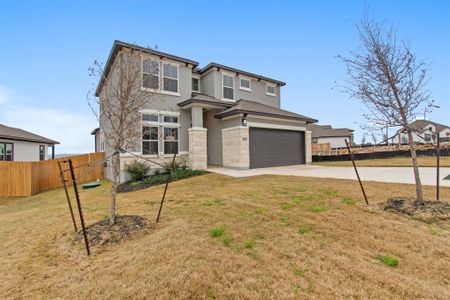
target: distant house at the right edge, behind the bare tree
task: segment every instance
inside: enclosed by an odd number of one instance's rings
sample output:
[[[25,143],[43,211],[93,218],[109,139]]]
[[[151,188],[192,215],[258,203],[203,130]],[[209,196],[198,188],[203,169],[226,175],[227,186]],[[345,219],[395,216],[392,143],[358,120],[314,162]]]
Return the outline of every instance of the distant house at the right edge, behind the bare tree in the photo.
[[[450,142],[450,127],[429,120],[415,120],[409,125],[413,129],[413,140],[418,144],[436,144],[439,133],[441,143]],[[408,134],[400,132],[394,138],[394,143],[408,143]]]

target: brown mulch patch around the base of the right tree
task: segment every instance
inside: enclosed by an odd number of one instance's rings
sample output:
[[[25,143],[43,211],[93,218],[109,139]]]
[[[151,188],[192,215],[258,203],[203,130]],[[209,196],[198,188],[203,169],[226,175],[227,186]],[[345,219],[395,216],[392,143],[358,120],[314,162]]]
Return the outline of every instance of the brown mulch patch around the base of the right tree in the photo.
[[[390,198],[381,206],[386,211],[408,215],[426,223],[449,222],[450,203],[446,201],[423,200],[411,198]]]

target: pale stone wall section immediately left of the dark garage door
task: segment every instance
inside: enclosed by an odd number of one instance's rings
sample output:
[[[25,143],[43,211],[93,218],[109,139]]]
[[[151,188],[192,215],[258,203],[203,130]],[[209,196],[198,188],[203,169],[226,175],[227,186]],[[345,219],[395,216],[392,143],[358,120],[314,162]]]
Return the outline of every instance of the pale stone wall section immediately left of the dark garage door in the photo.
[[[250,168],[248,127],[222,129],[222,165],[236,169]]]

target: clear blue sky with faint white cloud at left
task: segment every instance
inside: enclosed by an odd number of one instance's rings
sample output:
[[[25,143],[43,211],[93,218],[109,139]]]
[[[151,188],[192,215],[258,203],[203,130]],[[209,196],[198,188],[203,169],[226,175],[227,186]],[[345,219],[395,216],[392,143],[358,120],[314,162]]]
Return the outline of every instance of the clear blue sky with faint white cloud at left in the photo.
[[[362,106],[336,80],[335,58],[359,42],[368,5],[430,63],[429,89],[450,123],[450,1],[4,1],[0,0],[0,123],[61,142],[57,153],[93,150],[96,127],[87,68],[115,39],[285,81],[282,108],[321,124],[358,129]],[[356,132],[356,141],[360,140]]]

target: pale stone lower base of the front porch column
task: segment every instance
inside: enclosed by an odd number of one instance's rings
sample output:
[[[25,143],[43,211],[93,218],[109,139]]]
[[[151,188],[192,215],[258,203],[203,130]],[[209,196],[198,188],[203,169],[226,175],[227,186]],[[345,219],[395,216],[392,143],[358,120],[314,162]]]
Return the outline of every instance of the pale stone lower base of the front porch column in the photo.
[[[189,167],[194,170],[206,170],[207,163],[207,129],[189,128]]]

